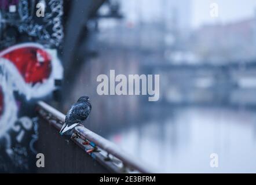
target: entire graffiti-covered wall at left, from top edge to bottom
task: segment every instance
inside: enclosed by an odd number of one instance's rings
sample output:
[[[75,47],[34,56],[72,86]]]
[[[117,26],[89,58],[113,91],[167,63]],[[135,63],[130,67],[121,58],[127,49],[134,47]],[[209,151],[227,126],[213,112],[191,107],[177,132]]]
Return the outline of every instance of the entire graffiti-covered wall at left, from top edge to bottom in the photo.
[[[44,17],[36,16],[39,2]],[[0,172],[35,165],[28,160],[38,140],[35,102],[51,98],[63,78],[62,18],[63,0],[0,1]]]

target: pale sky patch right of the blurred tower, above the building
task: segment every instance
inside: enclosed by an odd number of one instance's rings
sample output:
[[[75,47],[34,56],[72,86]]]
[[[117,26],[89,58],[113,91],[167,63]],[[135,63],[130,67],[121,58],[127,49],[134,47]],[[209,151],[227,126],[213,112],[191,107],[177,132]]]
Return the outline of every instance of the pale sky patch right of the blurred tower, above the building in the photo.
[[[253,17],[256,10],[256,0],[191,0],[192,1],[192,27],[203,23],[216,21],[226,23]],[[210,17],[210,4],[218,3],[219,17]]]

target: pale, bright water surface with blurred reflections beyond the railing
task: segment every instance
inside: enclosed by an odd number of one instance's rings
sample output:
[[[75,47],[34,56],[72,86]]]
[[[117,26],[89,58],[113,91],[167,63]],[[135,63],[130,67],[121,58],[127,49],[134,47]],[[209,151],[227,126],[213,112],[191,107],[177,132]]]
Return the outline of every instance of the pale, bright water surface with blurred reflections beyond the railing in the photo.
[[[162,172],[256,172],[255,110],[169,110],[161,121],[136,123],[107,138]],[[218,168],[210,167],[211,153],[218,154]]]

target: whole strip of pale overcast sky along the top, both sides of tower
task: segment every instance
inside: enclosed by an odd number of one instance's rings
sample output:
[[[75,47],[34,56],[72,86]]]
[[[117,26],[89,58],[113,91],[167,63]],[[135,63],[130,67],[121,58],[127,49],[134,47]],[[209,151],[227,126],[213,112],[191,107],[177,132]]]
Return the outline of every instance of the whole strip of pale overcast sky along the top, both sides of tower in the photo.
[[[0,0],[1,1],[1,0]],[[256,0],[121,0],[123,12],[131,21],[158,21],[163,16],[170,16],[173,9],[169,5],[175,4],[192,28],[202,24],[227,23],[254,16]],[[211,3],[218,4],[217,18],[210,17]],[[182,21],[182,18],[180,19]]]

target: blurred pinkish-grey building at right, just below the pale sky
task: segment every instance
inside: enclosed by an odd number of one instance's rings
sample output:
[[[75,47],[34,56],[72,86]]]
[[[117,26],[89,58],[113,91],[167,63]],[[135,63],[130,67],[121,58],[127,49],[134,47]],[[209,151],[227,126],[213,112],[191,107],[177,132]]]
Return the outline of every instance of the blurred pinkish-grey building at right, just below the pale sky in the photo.
[[[193,32],[190,49],[202,62],[248,62],[256,58],[256,18],[203,25]]]

